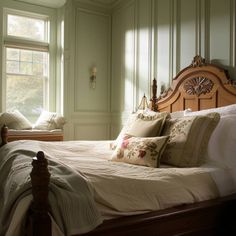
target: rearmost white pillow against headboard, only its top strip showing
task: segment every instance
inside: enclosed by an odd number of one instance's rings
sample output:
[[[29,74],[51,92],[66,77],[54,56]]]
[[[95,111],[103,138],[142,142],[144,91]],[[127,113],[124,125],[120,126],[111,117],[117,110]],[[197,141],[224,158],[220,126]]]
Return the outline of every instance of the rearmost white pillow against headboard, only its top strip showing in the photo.
[[[185,116],[206,115],[211,112],[217,112],[220,114],[220,116],[236,114],[236,104],[232,104],[232,105],[228,105],[224,107],[205,109],[201,111],[191,111],[191,109],[187,109],[184,111],[184,115]]]

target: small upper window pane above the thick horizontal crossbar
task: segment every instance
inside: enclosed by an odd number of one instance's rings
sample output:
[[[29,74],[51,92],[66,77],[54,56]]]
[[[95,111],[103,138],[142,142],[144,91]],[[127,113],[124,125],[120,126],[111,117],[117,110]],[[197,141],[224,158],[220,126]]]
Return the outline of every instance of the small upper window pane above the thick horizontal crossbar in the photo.
[[[7,19],[8,35],[46,41],[44,20],[10,14]]]

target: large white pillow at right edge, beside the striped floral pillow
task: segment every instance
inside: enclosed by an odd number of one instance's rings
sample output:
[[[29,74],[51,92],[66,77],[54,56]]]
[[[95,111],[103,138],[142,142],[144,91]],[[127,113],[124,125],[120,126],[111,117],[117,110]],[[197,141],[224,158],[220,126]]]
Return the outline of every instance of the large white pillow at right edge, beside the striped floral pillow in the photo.
[[[236,114],[220,118],[208,143],[208,157],[224,166],[236,168]]]

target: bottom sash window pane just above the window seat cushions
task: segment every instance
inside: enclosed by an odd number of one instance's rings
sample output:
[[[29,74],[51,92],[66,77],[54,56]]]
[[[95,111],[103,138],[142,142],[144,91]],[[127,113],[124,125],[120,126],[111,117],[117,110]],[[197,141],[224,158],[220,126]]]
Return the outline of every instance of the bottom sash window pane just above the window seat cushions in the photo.
[[[43,78],[8,75],[7,110],[18,109],[34,123],[43,109],[43,84]]]

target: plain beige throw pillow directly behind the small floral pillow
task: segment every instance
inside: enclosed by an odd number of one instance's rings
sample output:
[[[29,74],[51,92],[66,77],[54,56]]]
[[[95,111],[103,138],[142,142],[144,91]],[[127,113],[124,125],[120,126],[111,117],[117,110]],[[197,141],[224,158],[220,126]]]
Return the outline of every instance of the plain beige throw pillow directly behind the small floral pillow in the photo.
[[[158,136],[160,135],[162,128],[164,126],[165,119],[169,116],[168,112],[154,112],[154,111],[145,111],[145,112],[138,112],[133,113],[129,116],[126,124],[122,128],[121,132],[119,133],[118,137],[114,142],[111,143],[110,147],[111,149],[115,149],[117,145],[119,145],[125,135],[129,134],[132,136],[137,137],[152,137],[152,136]],[[142,124],[145,124],[146,127],[149,128],[148,131],[145,131],[144,128],[142,128]],[[150,132],[151,126],[156,125],[156,131],[154,131],[154,135]],[[139,126],[136,130],[136,127]]]

